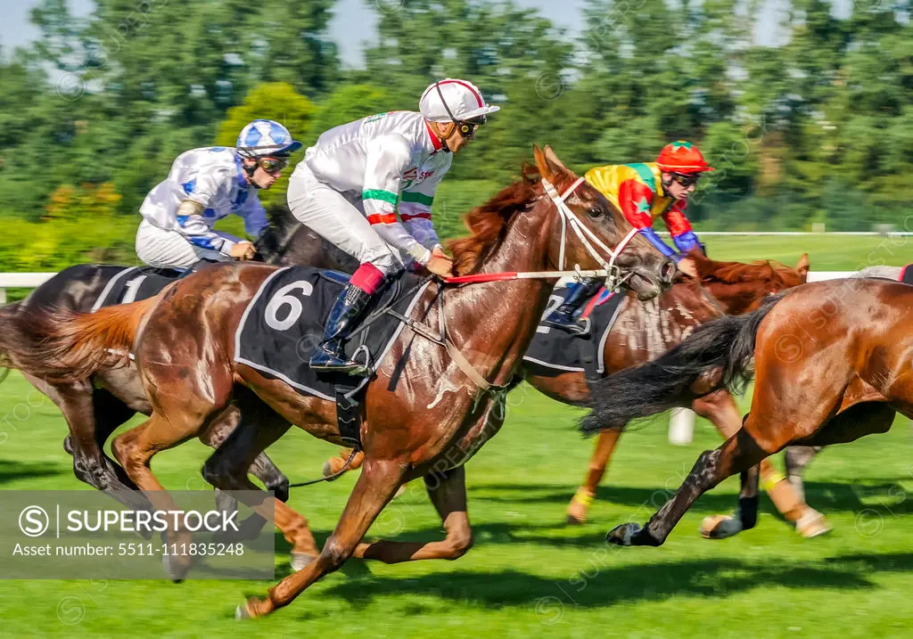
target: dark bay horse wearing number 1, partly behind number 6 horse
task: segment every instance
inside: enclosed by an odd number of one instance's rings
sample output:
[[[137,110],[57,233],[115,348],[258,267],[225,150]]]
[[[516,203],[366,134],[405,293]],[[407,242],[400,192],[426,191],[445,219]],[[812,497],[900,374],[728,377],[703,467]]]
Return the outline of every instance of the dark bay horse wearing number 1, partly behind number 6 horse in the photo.
[[[269,210],[269,225],[255,246],[255,259],[269,265],[311,264],[330,269],[351,268],[351,257],[299,225],[284,206]],[[56,311],[88,313],[105,294],[110,281],[127,268],[100,264],[68,267],[33,290],[26,299],[0,308],[0,363],[8,354],[11,340],[31,335],[35,338],[32,348],[40,348],[44,336],[24,327],[23,322],[31,321],[36,314],[50,315]],[[137,413],[152,414],[152,405],[142,388],[136,367],[102,370],[89,378],[67,381],[43,378],[29,372],[26,367],[20,369],[26,381],[46,394],[64,415],[69,429],[64,449],[73,457],[76,477],[121,501],[126,498],[128,506],[145,505],[139,494],[131,495],[130,491],[136,487],[130,477],[104,452],[105,442],[121,424]],[[244,388],[237,389],[232,409],[209,424],[200,435],[201,441],[217,447],[243,419],[242,407],[256,403],[258,400],[253,393]],[[252,462],[250,472],[268,490],[273,490],[279,499],[285,501],[289,498],[288,478],[265,453]],[[224,505],[228,506],[227,503]],[[296,556],[309,557],[318,553],[310,530],[300,531],[289,542],[293,547],[293,560]]]

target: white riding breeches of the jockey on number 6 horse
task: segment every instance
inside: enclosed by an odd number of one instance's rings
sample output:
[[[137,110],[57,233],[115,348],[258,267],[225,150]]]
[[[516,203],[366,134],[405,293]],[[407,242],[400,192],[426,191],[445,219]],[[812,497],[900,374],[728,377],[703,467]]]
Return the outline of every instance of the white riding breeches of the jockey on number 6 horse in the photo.
[[[301,224],[384,275],[406,262],[365,218],[361,194],[347,196],[320,182],[306,162],[299,162],[289,180],[289,208]]]

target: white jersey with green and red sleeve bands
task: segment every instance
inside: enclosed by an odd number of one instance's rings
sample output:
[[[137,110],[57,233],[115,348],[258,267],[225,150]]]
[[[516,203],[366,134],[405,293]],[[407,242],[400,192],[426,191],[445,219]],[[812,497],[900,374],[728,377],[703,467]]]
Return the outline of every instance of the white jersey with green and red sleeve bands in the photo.
[[[378,235],[420,264],[439,243],[431,204],[451,160],[414,111],[381,113],[326,131],[305,157],[321,183],[361,197]]]

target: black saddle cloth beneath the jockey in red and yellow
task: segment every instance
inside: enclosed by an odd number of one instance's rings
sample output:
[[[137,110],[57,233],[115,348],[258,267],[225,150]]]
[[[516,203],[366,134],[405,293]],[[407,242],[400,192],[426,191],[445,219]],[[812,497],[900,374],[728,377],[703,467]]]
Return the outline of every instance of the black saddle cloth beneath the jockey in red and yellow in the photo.
[[[557,308],[556,305],[561,303],[565,293],[565,288],[555,288],[546,315],[551,309]],[[603,377],[605,340],[608,339],[625,296],[621,293],[610,294],[604,289],[597,298],[599,296],[604,299],[590,311],[590,331],[586,335],[572,335],[565,330],[540,324],[529,350],[523,356],[523,365],[531,372],[547,377],[565,372],[582,372],[587,379]]]

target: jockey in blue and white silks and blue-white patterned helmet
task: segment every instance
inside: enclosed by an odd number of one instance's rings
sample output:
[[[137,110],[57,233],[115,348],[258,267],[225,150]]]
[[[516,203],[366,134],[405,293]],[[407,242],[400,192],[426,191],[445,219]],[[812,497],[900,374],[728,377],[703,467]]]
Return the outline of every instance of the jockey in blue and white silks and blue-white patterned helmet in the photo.
[[[234,149],[215,146],[179,155],[167,179],[142,202],[137,256],[152,267],[172,268],[254,257],[253,244],[213,225],[239,215],[247,235],[259,237],[268,221],[257,191],[276,183],[289,155],[301,146],[278,122],[254,120]]]

